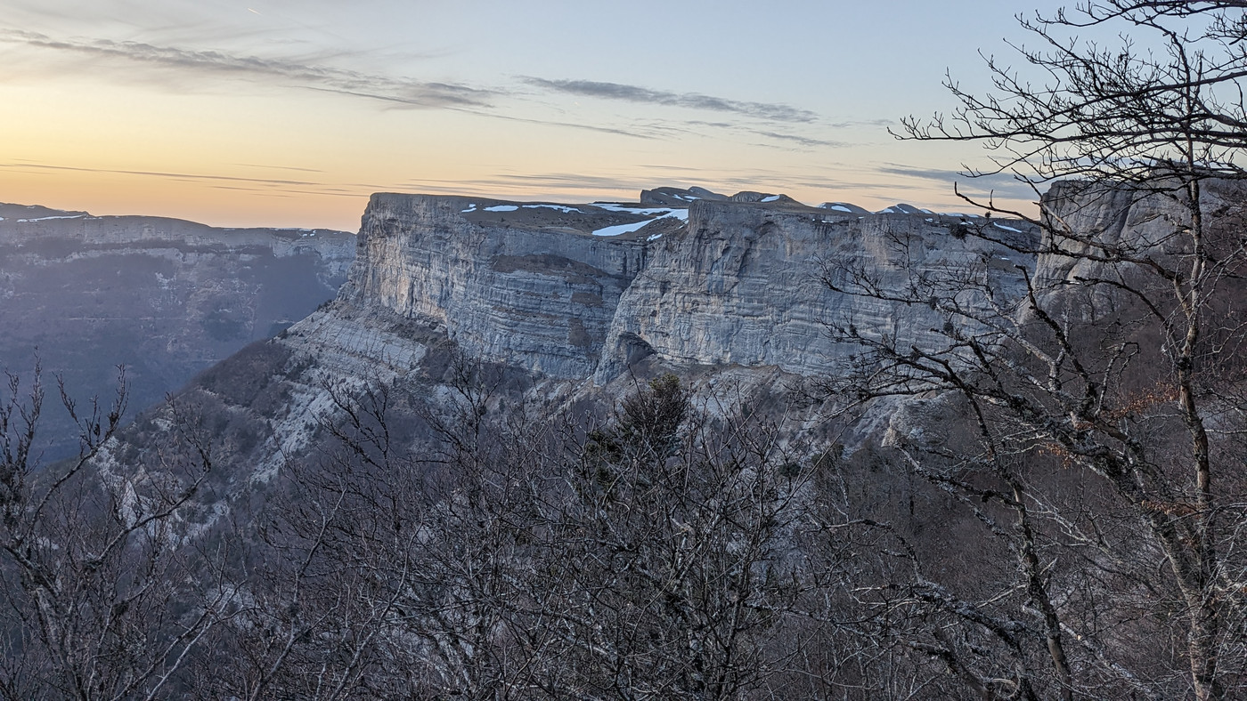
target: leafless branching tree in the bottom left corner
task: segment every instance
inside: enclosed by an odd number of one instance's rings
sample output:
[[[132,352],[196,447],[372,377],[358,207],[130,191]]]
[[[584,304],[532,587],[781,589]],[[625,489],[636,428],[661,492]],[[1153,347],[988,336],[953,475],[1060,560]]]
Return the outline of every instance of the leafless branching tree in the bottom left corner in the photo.
[[[153,699],[217,620],[219,593],[196,553],[181,548],[180,510],[212,466],[187,417],[162,452],[160,476],[101,471],[126,406],[81,408],[76,458],[40,459],[46,388],[6,374],[0,405],[0,695],[7,699]],[[137,467],[137,466],[130,466]],[[153,467],[153,473],[157,466]],[[187,581],[201,575],[202,588]]]

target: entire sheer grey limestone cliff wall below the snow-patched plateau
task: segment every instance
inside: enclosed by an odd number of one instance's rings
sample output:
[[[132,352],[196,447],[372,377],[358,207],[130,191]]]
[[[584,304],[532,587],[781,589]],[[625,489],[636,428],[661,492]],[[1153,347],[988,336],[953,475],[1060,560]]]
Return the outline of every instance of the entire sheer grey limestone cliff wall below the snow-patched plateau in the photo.
[[[627,235],[591,235],[658,212],[604,207],[374,195],[339,299],[420,320],[470,357],[555,379],[604,385],[648,356],[817,375],[853,352],[831,340],[828,321],[919,344],[941,322],[927,305],[845,295],[824,276],[868,268],[903,293],[978,275],[1014,294],[1014,265],[1029,263],[958,235],[959,217],[858,215],[758,195],[698,199],[687,217],[665,209]]]

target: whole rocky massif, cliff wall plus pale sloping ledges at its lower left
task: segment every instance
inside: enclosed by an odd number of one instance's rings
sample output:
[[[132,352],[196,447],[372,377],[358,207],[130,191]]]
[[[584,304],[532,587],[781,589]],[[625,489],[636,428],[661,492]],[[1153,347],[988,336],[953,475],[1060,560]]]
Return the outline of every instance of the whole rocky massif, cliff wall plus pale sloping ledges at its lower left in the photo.
[[[433,441],[424,422],[455,411],[456,359],[489,370],[499,411],[505,401],[604,412],[636,376],[666,370],[725,400],[707,400],[707,411],[782,407],[789,381],[826,376],[858,350],[833,342],[827,322],[920,344],[945,319],[925,303],[835,293],[827,275],[869,269],[898,295],[917,280],[966,275],[1004,296],[1020,291],[1014,265],[1031,261],[966,235],[973,225],[1033,238],[1016,222],[858,215],[781,195],[698,198],[685,209],[377,194],[338,298],[181,398],[221,417],[219,478],[233,484],[221,489],[238,493],[311,454],[340,397],[382,388],[407,412],[407,440]],[[868,421],[885,426],[892,410],[878,413]],[[826,422],[807,423],[808,438]],[[147,418],[126,441],[147,449],[158,425]]]

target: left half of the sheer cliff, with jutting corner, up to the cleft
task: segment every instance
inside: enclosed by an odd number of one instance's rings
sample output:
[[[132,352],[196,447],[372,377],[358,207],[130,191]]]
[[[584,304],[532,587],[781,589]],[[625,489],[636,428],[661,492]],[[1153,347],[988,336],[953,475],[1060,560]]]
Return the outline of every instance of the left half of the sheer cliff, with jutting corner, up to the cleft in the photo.
[[[374,195],[343,299],[431,320],[473,357],[585,377],[646,242],[595,237],[590,227],[630,217],[584,212]]]

